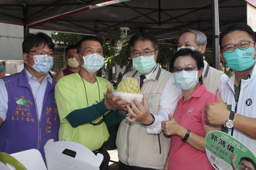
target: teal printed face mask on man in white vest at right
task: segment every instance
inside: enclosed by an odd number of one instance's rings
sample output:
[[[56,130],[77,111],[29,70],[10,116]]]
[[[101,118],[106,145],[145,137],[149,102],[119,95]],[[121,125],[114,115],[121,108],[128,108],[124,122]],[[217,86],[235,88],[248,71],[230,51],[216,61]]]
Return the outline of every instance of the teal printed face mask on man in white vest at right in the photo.
[[[245,50],[237,48],[231,53],[223,53],[223,56],[227,62],[227,66],[235,71],[247,70],[255,63],[255,60],[253,60],[253,47]]]

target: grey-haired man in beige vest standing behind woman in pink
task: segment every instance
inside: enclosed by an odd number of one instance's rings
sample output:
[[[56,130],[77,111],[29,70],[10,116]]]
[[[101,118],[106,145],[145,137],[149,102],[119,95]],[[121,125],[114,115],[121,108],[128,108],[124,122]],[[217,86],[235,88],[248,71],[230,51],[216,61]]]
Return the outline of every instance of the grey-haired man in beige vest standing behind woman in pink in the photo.
[[[207,39],[204,33],[194,29],[186,29],[179,36],[177,50],[181,48],[190,48],[204,53],[206,45]],[[204,64],[205,66],[203,67],[202,73],[203,83],[207,90],[216,94],[219,85],[229,79],[229,77],[224,72],[210,67],[205,60]]]

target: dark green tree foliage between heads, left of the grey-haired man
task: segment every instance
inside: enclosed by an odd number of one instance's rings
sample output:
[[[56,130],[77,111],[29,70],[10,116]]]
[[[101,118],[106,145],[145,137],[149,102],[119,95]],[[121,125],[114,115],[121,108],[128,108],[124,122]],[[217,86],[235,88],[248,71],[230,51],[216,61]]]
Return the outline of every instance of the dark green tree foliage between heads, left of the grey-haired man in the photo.
[[[85,35],[73,34],[73,33],[63,33],[63,32],[52,32],[51,38],[60,44],[72,45],[77,44]],[[124,74],[131,71],[133,67],[132,59],[130,57],[127,46],[123,46],[121,51],[116,53],[115,51],[115,41],[114,39],[99,37],[103,44],[103,52],[105,56],[103,70],[112,69],[115,64],[119,65],[121,68],[126,66]],[[176,48],[169,44],[159,44],[159,52],[157,57],[157,63],[162,66],[170,63],[171,57],[176,52]],[[100,69],[97,73],[97,76],[101,76]],[[122,80],[122,77],[119,77],[117,84]]]

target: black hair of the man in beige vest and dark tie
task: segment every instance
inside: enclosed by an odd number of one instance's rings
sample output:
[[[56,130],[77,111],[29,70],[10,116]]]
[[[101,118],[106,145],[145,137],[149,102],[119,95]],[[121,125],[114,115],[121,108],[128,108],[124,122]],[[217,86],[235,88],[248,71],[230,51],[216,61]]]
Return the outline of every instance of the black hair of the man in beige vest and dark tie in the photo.
[[[159,43],[155,36],[149,33],[137,33],[133,37],[131,37],[128,43],[128,50],[130,52],[131,48],[135,45],[137,41],[150,41],[155,50],[158,50]]]

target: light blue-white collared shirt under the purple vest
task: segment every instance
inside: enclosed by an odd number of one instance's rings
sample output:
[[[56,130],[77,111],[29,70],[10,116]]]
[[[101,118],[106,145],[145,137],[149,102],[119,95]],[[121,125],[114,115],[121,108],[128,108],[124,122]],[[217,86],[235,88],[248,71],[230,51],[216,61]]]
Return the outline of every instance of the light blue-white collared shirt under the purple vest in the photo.
[[[31,87],[32,93],[35,98],[35,102],[37,104],[37,111],[38,111],[38,118],[40,120],[42,115],[42,107],[43,107],[43,98],[45,96],[45,90],[47,86],[47,81],[50,83],[53,82],[53,79],[49,75],[49,73],[46,74],[45,78],[43,79],[42,83],[40,84],[37,80],[37,78],[33,77],[29,71],[25,69],[25,74],[27,78],[27,82]],[[14,89],[15,90],[15,89]],[[6,113],[8,111],[8,94],[5,87],[5,83],[2,79],[0,79],[0,117],[5,121],[6,119]]]

